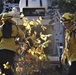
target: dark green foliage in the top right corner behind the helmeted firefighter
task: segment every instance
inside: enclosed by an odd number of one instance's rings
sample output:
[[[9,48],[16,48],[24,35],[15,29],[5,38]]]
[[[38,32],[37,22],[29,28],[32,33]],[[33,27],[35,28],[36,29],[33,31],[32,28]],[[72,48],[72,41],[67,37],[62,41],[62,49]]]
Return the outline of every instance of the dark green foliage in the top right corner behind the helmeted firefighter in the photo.
[[[60,0],[59,1],[60,12],[76,12],[76,0]]]

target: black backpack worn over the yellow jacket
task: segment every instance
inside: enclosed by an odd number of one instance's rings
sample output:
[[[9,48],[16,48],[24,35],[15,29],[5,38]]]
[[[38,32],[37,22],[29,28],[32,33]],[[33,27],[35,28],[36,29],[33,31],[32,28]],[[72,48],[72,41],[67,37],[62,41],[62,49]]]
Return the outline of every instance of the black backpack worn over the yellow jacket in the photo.
[[[5,23],[3,25],[3,28],[2,28],[2,33],[3,33],[3,36],[2,37],[3,38],[14,38],[15,37],[15,36],[11,36],[11,34],[12,34],[12,25],[14,25],[14,24],[11,23],[11,22],[7,22],[7,23]]]

